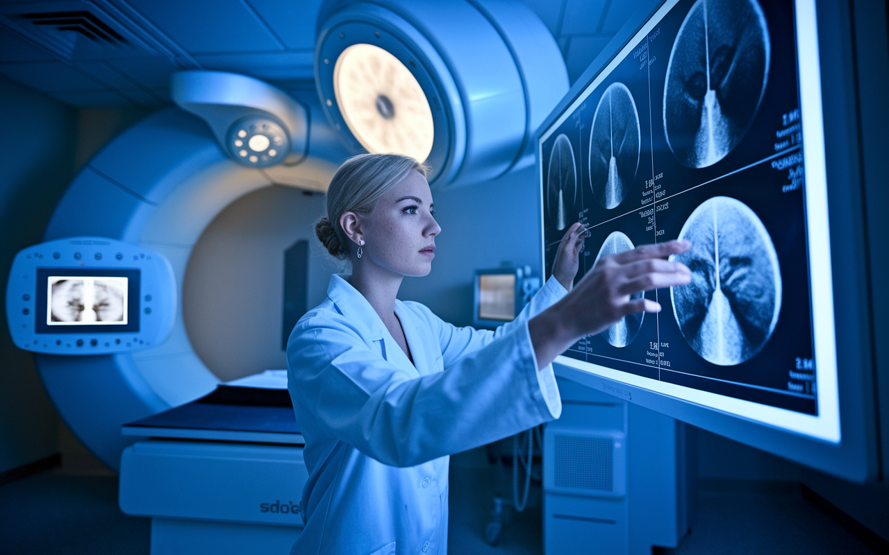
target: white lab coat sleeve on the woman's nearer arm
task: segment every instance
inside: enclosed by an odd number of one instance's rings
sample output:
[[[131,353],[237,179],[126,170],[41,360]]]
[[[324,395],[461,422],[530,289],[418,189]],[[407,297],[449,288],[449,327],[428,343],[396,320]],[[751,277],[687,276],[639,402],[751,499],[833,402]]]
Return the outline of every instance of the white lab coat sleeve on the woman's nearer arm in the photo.
[[[340,319],[309,320],[291,336],[290,390],[322,432],[383,464],[421,464],[554,417],[526,322],[446,371],[416,377]]]

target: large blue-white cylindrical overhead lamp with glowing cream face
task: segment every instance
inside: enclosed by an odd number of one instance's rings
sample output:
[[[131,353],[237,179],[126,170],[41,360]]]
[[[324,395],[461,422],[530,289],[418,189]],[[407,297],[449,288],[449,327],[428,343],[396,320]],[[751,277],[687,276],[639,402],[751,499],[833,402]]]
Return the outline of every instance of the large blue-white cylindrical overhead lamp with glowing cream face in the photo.
[[[315,76],[353,152],[411,155],[439,186],[533,161],[531,136],[568,90],[541,20],[489,0],[329,0]]]

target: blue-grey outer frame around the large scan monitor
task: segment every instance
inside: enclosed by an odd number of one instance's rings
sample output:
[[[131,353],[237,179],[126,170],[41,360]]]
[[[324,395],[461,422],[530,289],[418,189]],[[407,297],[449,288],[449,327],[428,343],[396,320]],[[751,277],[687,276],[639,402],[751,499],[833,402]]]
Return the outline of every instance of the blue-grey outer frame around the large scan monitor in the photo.
[[[572,106],[608,64],[629,44],[645,24],[661,9],[637,12],[605,47],[587,71],[574,83],[571,91],[555,107],[535,133],[533,147],[537,163],[541,164],[541,137]],[[876,361],[873,353],[875,329],[871,322],[876,309],[871,308],[869,283],[870,259],[875,258],[873,242],[866,242],[867,229],[862,222],[865,210],[861,183],[861,130],[855,90],[856,75],[853,59],[853,27],[851,7],[846,3],[818,3],[797,0],[796,10],[817,19],[817,31],[810,40],[817,41],[820,58],[821,99],[823,107],[845,107],[845,110],[823,109],[823,167],[828,183],[829,204],[829,265],[833,274],[833,307],[836,333],[837,395],[839,398],[838,442],[819,440],[797,432],[789,432],[769,424],[727,413],[717,408],[653,392],[644,387],[629,385],[621,380],[566,366],[563,357],[555,363],[557,376],[611,393],[679,420],[716,432],[733,440],[779,456],[812,466],[824,472],[854,481],[878,480],[881,467],[886,464],[881,456],[878,440],[877,397],[887,399],[885,385],[875,380]],[[797,16],[798,22],[798,16]],[[885,30],[884,30],[885,33]],[[885,36],[884,36],[885,40]],[[797,42],[798,44],[798,42]],[[802,87],[801,81],[800,86]],[[805,115],[804,115],[805,117]],[[807,152],[817,145],[807,144]],[[885,164],[885,163],[884,163]],[[808,167],[806,168],[808,170]],[[856,186],[832,186],[854,184]],[[542,198],[539,199],[542,223]],[[845,245],[865,244],[870,248],[849,249]],[[879,246],[885,253],[885,246]],[[545,276],[544,258],[541,275]],[[811,266],[810,266],[811,267]],[[884,380],[885,381],[885,380]],[[879,394],[875,394],[878,392]],[[883,434],[885,435],[885,425]]]

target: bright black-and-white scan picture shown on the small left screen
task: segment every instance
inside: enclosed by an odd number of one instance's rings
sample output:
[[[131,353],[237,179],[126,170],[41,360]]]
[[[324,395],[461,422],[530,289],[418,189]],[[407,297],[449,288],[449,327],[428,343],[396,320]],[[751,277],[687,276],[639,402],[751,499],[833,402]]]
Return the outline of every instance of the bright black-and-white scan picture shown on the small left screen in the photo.
[[[49,325],[126,323],[124,277],[51,276],[49,287]]]

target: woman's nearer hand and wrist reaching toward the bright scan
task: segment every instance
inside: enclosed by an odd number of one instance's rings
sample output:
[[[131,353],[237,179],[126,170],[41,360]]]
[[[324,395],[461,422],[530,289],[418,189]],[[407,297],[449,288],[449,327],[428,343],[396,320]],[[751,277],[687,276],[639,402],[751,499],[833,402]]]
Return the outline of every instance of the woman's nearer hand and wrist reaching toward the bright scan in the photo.
[[[661,312],[659,303],[645,297],[630,300],[630,295],[691,281],[687,266],[667,259],[691,246],[688,241],[661,242],[600,258],[577,287],[528,322],[538,368],[581,337],[601,333],[628,314]]]

